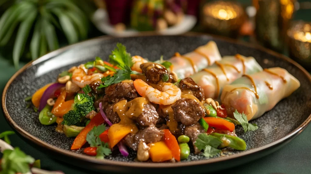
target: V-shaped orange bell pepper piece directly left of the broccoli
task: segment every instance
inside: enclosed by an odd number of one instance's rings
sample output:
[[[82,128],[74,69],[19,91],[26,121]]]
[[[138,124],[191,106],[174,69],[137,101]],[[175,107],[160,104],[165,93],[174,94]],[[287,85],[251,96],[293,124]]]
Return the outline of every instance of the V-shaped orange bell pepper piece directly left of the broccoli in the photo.
[[[74,100],[72,99],[65,101],[66,96],[67,93],[65,90],[63,90],[61,94],[58,96],[57,100],[55,101],[51,113],[54,114],[56,117],[63,117],[64,114],[66,114],[68,111],[72,109],[71,107],[72,104],[74,103]]]

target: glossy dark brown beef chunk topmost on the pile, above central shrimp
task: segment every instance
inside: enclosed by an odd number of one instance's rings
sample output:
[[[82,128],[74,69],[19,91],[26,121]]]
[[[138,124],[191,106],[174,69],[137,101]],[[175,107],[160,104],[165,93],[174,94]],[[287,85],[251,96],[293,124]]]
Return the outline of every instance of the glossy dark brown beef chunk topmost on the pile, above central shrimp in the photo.
[[[164,76],[168,76],[169,79],[167,82],[172,82],[173,76],[169,74],[167,69],[160,64],[147,62],[140,65],[142,72],[146,76],[146,80],[150,83],[159,83]]]

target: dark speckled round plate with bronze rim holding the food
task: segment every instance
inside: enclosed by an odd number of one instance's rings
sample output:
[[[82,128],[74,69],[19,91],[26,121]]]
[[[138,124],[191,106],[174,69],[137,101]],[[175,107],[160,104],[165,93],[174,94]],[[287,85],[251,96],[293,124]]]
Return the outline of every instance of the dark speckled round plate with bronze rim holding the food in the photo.
[[[301,87],[288,98],[281,100],[271,111],[253,120],[259,129],[244,133],[237,126],[236,132],[247,144],[246,151],[227,150],[220,156],[207,159],[191,154],[180,163],[140,163],[134,162],[136,154],[130,152],[123,158],[117,151],[104,160],[97,160],[79,151],[70,151],[73,138],[55,132],[55,125],[39,123],[38,113],[26,109],[24,98],[32,95],[47,83],[54,82],[58,74],[73,65],[94,60],[95,56],[108,59],[117,42],[123,43],[132,55],[140,55],[149,60],[173,56],[174,52],[186,53],[214,40],[222,56],[253,56],[263,68],[279,66],[287,69],[301,83]],[[7,83],[2,96],[2,107],[7,120],[24,137],[35,142],[47,153],[80,167],[98,171],[114,172],[208,172],[232,167],[260,158],[280,148],[301,132],[311,120],[311,77],[300,65],[280,54],[248,43],[227,40],[214,36],[187,34],[183,36],[147,35],[128,38],[101,37],[53,51],[38,60],[25,65]]]

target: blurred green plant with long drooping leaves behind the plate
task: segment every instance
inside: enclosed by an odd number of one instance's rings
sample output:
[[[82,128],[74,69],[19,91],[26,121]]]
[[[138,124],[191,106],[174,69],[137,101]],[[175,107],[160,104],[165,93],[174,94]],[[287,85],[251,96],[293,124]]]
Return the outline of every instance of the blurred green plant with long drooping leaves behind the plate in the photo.
[[[8,0],[0,0],[0,4],[6,2]],[[16,33],[13,63],[18,69],[28,43],[31,58],[35,60],[59,48],[58,30],[69,44],[86,39],[87,15],[93,9],[90,3],[86,0],[16,0],[0,18],[0,46],[7,45]]]

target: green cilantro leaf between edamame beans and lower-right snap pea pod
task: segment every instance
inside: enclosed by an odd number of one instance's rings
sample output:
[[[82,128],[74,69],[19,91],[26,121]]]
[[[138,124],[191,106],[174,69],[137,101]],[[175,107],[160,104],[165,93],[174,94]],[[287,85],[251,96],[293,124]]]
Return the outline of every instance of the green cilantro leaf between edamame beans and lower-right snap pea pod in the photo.
[[[201,133],[197,136],[197,140],[194,145],[199,149],[202,150],[205,146],[210,145],[214,148],[217,148],[222,141],[219,138],[216,138],[211,135],[207,135],[206,133]]]

